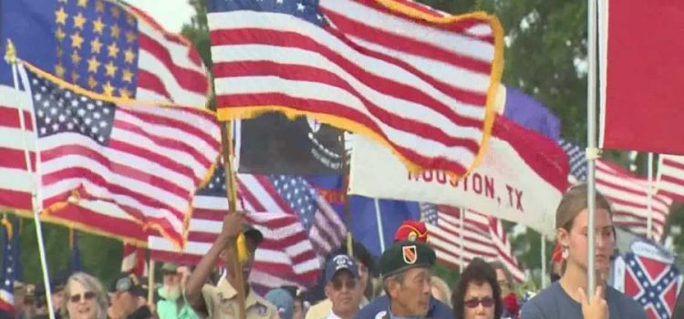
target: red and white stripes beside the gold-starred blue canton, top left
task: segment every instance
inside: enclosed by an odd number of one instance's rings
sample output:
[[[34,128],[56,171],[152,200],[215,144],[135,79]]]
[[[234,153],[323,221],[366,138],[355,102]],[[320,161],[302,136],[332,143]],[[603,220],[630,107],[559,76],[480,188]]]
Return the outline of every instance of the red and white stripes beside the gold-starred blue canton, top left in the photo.
[[[136,98],[206,106],[209,77],[192,43],[183,36],[165,31],[139,8],[120,1],[119,4],[138,17],[140,49]]]

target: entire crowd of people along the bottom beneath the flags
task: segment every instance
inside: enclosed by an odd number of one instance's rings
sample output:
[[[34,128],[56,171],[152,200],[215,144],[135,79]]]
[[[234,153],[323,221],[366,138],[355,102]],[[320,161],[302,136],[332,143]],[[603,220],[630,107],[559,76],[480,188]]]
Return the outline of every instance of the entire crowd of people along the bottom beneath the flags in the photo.
[[[554,283],[530,300],[516,295],[512,275],[502,262],[480,258],[468,264],[450,290],[449,283],[431,272],[437,256],[425,225],[406,221],[377,265],[358,242],[351,254],[331,253],[322,272],[326,298],[315,304],[296,287],[276,288],[261,296],[244,281],[246,318],[646,318],[635,301],[606,285],[615,231],[610,204],[600,194],[596,197],[596,293],[587,298],[587,215],[586,185],[567,190],[556,211],[559,256],[554,256]],[[214,280],[212,272],[220,259],[231,265],[235,261],[230,256],[240,255],[233,244],[240,236],[249,253],[238,262],[240,267],[229,266]],[[240,311],[238,274],[249,278],[254,252],[263,240],[260,231],[244,223],[241,213],[228,214],[218,239],[194,269],[164,263],[159,288],[121,273],[106,291],[88,273],[74,273],[52,284],[52,304],[58,317],[74,319],[235,318]],[[378,279],[372,275],[376,270]],[[46,300],[39,297],[45,293],[33,294],[24,298],[30,303],[19,309],[17,319],[47,317]]]

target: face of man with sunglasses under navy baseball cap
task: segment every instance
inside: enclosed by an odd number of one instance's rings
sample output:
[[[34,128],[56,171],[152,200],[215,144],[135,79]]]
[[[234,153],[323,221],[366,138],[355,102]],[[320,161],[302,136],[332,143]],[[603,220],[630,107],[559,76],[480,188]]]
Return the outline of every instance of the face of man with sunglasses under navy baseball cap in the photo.
[[[326,297],[333,304],[335,314],[354,314],[361,301],[357,278],[347,271],[337,272],[326,284]]]

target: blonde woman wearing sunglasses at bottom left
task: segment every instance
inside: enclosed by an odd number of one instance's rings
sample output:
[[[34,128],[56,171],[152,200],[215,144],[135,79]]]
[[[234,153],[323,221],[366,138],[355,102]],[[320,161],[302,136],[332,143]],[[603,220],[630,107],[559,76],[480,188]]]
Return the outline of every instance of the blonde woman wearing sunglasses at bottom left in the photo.
[[[62,318],[106,319],[107,295],[98,279],[88,273],[74,273],[64,287]]]

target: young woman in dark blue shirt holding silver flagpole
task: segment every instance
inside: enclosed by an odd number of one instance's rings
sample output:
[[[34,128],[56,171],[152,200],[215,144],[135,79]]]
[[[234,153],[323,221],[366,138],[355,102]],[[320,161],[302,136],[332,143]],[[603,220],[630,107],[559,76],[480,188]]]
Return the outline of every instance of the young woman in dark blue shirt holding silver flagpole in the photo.
[[[615,244],[610,203],[596,192],[596,294],[590,301],[587,286],[586,184],[567,190],[555,211],[556,240],[561,245],[561,278],[523,305],[523,319],[646,319],[637,302],[606,284]]]

